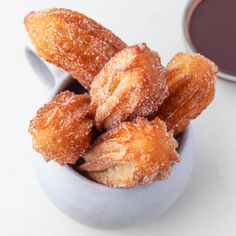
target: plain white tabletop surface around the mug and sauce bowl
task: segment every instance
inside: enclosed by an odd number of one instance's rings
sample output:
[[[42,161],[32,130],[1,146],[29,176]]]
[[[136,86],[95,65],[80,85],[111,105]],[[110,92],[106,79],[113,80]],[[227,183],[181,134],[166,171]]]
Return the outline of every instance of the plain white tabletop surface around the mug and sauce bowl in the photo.
[[[236,235],[236,83],[218,80],[212,105],[193,122],[196,162],[184,194],[155,223],[122,231],[79,225],[47,199],[35,177],[27,133],[48,96],[24,58],[23,17],[46,7],[76,9],[128,44],[146,42],[163,64],[184,50],[186,0],[4,1],[0,13],[0,235]]]

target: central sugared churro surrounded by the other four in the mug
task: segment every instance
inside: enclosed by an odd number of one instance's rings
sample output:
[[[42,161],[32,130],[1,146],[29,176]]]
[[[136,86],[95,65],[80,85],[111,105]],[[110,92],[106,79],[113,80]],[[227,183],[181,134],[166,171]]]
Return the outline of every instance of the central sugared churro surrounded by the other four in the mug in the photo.
[[[141,43],[126,47],[105,65],[91,84],[91,110],[98,129],[147,117],[168,95],[160,57]]]

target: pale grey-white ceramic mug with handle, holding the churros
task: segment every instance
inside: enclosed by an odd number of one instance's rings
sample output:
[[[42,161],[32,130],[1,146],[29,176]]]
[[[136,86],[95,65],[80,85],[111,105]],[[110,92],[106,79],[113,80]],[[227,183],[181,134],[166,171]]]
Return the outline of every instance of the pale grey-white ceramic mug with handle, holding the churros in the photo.
[[[37,75],[52,89],[50,101],[72,79],[41,61],[30,48],[26,49],[26,53]],[[66,215],[90,227],[120,229],[156,220],[183,192],[194,161],[191,125],[180,137],[179,144],[181,163],[172,166],[168,180],[129,189],[109,188],[95,183],[69,165],[46,163],[38,156],[34,160],[45,193]]]

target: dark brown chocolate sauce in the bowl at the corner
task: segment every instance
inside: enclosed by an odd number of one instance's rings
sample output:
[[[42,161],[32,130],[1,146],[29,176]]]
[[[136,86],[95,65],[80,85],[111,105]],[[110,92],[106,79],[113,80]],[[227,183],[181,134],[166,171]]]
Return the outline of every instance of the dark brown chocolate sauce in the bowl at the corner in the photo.
[[[236,75],[236,0],[202,0],[189,21],[196,50],[222,72]]]

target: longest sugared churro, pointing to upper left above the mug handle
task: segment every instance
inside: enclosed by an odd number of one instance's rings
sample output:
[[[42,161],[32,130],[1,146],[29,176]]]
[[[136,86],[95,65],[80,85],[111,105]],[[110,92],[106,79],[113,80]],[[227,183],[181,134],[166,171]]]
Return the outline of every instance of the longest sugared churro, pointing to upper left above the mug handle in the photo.
[[[25,17],[28,34],[45,60],[63,68],[89,88],[93,77],[126,44],[87,16],[53,8]]]

